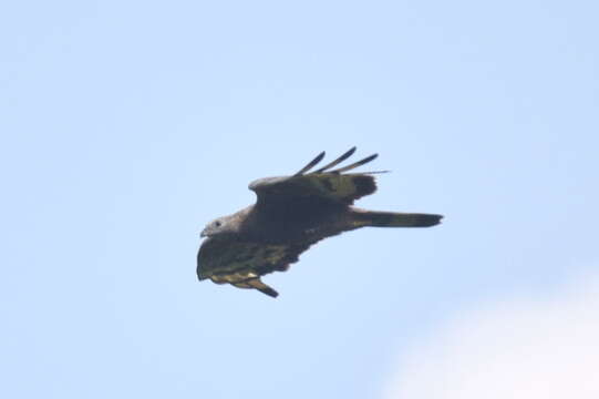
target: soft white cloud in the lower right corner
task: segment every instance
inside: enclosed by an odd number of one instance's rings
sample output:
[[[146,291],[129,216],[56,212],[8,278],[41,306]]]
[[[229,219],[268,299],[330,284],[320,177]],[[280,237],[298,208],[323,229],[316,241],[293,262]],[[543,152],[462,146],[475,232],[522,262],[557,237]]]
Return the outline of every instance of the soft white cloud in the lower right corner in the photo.
[[[599,278],[487,304],[400,359],[385,399],[599,398]]]

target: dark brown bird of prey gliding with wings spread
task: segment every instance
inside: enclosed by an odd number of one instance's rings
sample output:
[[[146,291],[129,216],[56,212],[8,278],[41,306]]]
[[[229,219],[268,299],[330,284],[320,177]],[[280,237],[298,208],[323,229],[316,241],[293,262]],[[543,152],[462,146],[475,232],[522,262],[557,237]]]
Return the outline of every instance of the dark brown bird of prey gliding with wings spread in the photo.
[[[250,183],[258,198],[233,215],[219,217],[202,232],[207,237],[197,255],[200,280],[254,288],[277,297],[261,276],[285,272],[312,244],[360,227],[430,227],[442,215],[423,213],[372,212],[352,206],[353,202],[376,191],[374,174],[345,173],[374,160],[370,155],[338,167],[355,147],[314,172],[320,153],[291,176],[267,177]]]

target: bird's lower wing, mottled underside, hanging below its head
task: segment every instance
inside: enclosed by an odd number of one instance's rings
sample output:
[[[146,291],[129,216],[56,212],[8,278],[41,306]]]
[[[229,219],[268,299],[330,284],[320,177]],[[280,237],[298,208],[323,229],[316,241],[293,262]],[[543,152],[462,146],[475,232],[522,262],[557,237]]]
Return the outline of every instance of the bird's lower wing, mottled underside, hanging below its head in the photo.
[[[279,294],[260,280],[272,272],[285,272],[298,262],[299,255],[313,243],[264,244],[234,237],[209,237],[197,254],[197,276],[216,284],[231,284],[238,288],[255,288],[271,297]]]

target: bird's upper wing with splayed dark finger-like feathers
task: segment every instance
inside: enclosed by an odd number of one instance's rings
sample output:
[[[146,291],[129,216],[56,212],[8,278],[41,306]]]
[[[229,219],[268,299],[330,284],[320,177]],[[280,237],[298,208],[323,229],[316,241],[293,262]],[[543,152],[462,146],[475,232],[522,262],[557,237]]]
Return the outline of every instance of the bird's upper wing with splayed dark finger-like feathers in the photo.
[[[355,200],[376,191],[373,174],[386,172],[343,173],[371,162],[378,154],[370,155],[348,166],[331,170],[350,157],[354,152],[355,147],[352,147],[326,166],[308,173],[324,157],[324,153],[322,152],[295,175],[260,178],[250,183],[249,188],[258,195],[258,205],[275,202],[292,202],[293,200],[307,197],[351,205]]]

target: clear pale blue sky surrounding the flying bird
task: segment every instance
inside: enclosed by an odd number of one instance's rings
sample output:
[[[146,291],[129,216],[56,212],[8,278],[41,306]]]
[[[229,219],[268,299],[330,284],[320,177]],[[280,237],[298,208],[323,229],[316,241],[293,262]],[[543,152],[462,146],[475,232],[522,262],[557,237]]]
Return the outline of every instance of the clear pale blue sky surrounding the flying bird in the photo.
[[[598,12],[3,4],[1,396],[380,398],[447,320],[593,275]],[[393,171],[359,206],[445,223],[322,242],[276,300],[196,280],[250,181],[353,145]]]

